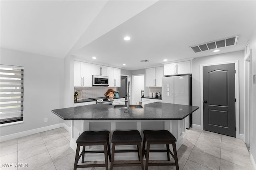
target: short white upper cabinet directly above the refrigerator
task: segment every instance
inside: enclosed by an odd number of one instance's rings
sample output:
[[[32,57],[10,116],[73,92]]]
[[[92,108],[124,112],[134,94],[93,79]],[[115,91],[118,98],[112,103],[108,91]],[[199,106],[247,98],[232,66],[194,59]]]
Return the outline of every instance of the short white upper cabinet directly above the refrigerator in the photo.
[[[190,61],[164,65],[164,75],[190,74]]]

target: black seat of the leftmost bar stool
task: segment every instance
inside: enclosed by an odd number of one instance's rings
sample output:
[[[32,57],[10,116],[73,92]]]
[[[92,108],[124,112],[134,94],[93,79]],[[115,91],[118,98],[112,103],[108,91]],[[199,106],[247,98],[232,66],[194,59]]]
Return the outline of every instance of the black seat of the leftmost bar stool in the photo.
[[[76,143],[104,143],[108,140],[109,131],[85,131],[77,138]]]

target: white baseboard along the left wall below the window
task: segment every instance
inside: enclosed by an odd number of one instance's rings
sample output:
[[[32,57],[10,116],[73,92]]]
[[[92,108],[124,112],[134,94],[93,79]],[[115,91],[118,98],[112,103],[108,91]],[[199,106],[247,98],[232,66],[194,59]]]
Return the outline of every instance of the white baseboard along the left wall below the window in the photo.
[[[47,130],[52,130],[54,128],[60,128],[60,127],[64,127],[64,123],[59,123],[59,124],[50,125],[50,126],[47,126],[47,127],[35,128],[35,129],[31,129],[31,130],[26,130],[26,131],[23,131],[23,132],[8,134],[8,135],[5,135],[5,136],[0,136],[0,142],[15,139],[15,138],[20,138],[20,137],[23,137],[23,136],[28,136],[30,134],[44,132],[44,131],[47,131]]]

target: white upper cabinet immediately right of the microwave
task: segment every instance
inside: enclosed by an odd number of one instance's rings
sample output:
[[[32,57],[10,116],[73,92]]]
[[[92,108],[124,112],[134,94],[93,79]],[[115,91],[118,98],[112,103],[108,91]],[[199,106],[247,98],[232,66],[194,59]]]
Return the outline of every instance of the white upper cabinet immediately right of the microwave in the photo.
[[[108,84],[110,87],[121,86],[121,69],[108,67]]]

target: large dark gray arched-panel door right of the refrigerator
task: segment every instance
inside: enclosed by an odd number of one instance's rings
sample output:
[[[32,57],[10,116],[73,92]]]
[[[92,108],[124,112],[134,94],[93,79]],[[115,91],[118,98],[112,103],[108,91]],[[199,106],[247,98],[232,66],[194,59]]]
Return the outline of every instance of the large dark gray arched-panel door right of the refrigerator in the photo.
[[[204,130],[236,137],[235,64],[203,67]]]

